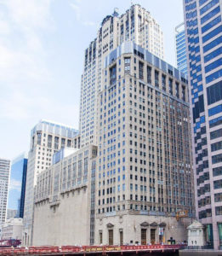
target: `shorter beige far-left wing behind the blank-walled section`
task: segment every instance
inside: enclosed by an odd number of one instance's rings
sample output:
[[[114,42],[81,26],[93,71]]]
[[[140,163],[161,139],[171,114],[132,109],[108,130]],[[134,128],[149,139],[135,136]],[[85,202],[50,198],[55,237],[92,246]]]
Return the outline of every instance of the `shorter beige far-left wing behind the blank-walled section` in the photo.
[[[60,125],[47,120],[40,120],[31,130],[31,144],[28,155],[26,175],[26,197],[24,208],[23,244],[31,245],[34,186],[37,183],[37,174],[48,169],[52,164],[53,154],[60,148],[71,148],[73,138],[78,131],[70,126]]]

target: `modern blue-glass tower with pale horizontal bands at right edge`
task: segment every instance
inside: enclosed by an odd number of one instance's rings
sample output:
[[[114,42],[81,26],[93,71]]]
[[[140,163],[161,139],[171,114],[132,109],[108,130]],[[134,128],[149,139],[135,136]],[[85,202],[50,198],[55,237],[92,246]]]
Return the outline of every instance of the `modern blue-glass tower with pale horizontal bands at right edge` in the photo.
[[[184,0],[196,216],[222,247],[222,0]]]

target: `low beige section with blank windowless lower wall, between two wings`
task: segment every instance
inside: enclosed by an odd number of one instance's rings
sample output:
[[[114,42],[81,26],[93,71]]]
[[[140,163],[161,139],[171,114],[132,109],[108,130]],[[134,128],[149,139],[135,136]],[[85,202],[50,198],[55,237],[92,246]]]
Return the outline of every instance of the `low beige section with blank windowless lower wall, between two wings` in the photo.
[[[37,177],[33,245],[94,244],[97,147],[61,149]]]

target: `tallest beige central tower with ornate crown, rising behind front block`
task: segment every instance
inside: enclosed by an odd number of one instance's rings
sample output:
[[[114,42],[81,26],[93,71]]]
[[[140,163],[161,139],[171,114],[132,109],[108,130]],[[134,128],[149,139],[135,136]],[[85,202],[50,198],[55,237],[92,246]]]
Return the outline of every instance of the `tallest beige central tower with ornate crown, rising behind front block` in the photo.
[[[85,50],[79,122],[82,147],[97,142],[97,98],[104,89],[105,78],[102,69],[105,65],[105,56],[125,41],[134,41],[135,44],[149,49],[151,53],[163,59],[161,28],[144,8],[136,4],[121,16],[117,14],[116,9],[113,15],[105,17],[97,38]]]

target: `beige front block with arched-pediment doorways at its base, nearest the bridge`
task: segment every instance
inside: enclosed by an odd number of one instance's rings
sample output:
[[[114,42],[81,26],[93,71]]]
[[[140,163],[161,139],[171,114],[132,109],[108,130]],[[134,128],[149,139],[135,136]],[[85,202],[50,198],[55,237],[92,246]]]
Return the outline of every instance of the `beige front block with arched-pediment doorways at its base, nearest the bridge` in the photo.
[[[186,240],[192,216],[185,74],[133,42],[105,58],[99,96],[96,244]]]

